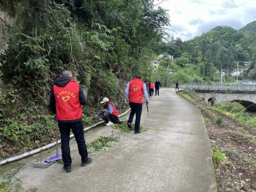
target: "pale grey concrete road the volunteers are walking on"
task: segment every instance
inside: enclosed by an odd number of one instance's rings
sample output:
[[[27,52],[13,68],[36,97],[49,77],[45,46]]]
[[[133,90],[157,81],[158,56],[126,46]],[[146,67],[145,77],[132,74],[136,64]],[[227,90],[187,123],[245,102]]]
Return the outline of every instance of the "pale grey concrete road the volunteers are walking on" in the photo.
[[[72,141],[72,172],[61,164],[47,170],[27,164],[19,173],[24,189],[38,191],[217,191],[211,145],[200,111],[173,89],[150,97],[150,118],[143,108],[141,134],[121,133],[116,147],[93,156],[93,163],[80,166]],[[111,127],[86,132],[86,142],[110,135]]]

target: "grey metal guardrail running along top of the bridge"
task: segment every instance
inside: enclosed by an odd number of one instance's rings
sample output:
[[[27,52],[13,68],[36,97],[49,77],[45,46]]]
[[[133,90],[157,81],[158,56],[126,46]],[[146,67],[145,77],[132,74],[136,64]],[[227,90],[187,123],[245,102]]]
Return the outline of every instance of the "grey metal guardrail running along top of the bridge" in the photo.
[[[180,88],[189,90],[256,91],[256,85],[253,84],[180,84]]]

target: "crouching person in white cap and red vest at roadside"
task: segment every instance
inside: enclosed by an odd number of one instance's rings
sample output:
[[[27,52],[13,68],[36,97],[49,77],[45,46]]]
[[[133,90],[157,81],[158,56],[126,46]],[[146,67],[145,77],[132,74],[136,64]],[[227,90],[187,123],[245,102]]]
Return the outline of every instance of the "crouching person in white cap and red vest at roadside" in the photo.
[[[106,121],[106,125],[110,126],[113,124],[122,124],[118,118],[118,111],[115,106],[109,102],[107,97],[104,97],[100,104],[103,104],[103,118]]]

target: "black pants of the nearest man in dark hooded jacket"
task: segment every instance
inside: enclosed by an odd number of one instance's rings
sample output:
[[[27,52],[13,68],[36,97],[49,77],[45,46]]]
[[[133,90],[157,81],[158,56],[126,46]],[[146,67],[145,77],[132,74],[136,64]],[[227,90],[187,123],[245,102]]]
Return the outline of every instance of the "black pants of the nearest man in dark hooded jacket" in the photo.
[[[81,156],[81,161],[86,162],[88,159],[87,147],[84,141],[84,131],[83,131],[83,122],[70,122],[70,123],[59,123],[60,135],[61,135],[61,152],[62,159],[65,166],[70,166],[72,163],[70,156],[70,147],[69,147],[69,135],[70,129],[74,133],[76,138],[76,143],[78,147],[79,154]]]

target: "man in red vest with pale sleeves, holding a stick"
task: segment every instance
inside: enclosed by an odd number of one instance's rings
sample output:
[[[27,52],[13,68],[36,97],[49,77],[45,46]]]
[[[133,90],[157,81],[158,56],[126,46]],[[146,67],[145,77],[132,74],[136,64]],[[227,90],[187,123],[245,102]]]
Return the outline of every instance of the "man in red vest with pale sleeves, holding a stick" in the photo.
[[[141,79],[141,74],[136,74],[135,78],[132,81],[127,83],[125,88],[125,99],[129,101],[131,107],[131,113],[129,116],[129,120],[127,122],[127,126],[132,129],[132,120],[134,115],[136,114],[134,133],[140,133],[140,118],[143,104],[143,95],[146,100],[146,104],[148,104],[148,92],[147,86]]]

